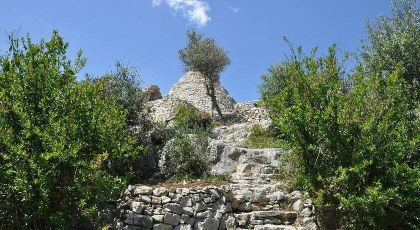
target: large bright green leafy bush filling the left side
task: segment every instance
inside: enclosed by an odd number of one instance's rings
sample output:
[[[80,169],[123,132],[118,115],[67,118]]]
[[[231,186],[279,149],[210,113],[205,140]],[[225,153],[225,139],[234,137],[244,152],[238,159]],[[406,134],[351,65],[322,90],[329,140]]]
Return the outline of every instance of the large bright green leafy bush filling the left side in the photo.
[[[86,59],[66,57],[57,31],[12,36],[0,57],[0,228],[69,228],[120,192],[144,148],[105,81],[77,82]]]

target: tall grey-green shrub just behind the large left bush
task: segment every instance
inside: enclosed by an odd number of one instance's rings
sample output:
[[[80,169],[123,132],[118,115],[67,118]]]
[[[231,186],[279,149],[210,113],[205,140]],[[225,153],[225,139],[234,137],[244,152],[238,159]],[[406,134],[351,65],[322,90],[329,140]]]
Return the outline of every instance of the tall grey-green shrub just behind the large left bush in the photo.
[[[115,61],[115,70],[92,79],[92,82],[103,81],[100,96],[106,100],[112,98],[115,104],[127,111],[125,115],[126,130],[136,137],[136,146],[150,143],[150,133],[157,129],[149,119],[149,107],[143,97],[141,85],[143,80],[139,74],[139,67],[129,63]],[[155,132],[154,132],[155,133]],[[149,152],[148,152],[149,153]],[[145,154],[130,161],[131,180],[139,182],[151,176],[154,172],[154,155]]]

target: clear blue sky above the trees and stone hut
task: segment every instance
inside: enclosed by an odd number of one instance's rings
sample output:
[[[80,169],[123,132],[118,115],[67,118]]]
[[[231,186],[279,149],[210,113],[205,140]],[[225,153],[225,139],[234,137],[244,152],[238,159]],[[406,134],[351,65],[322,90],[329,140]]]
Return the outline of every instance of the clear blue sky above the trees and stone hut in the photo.
[[[183,75],[177,50],[194,28],[230,52],[221,82],[244,101],[259,97],[259,76],[288,51],[283,35],[305,50],[317,45],[325,53],[337,43],[355,51],[366,18],[389,15],[389,6],[389,0],[4,0],[0,29],[21,26],[19,35],[29,32],[33,41],[58,29],[70,43],[68,56],[84,50],[83,73],[103,74],[116,59],[130,60],[141,66],[145,84],[166,94]],[[6,34],[0,38],[3,52]]]

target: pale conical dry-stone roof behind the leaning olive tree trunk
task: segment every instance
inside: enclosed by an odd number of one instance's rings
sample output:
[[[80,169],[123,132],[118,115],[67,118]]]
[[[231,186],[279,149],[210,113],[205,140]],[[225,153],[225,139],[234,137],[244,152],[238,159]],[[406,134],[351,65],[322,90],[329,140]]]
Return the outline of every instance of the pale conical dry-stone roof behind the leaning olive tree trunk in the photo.
[[[174,84],[168,95],[185,100],[201,111],[211,111],[211,98],[207,95],[204,86],[204,77],[196,71],[188,71],[179,81]],[[223,113],[233,110],[236,101],[229,95],[227,90],[216,82],[214,84],[217,104]]]

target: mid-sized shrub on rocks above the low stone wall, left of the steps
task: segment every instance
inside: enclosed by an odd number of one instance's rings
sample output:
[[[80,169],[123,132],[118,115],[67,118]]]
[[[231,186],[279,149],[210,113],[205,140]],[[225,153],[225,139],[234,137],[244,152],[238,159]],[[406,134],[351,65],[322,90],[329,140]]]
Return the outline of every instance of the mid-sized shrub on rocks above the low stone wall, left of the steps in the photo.
[[[199,113],[193,106],[178,104],[173,133],[168,144],[168,171],[176,177],[200,178],[209,169],[206,154],[207,137],[212,130],[212,119]]]

